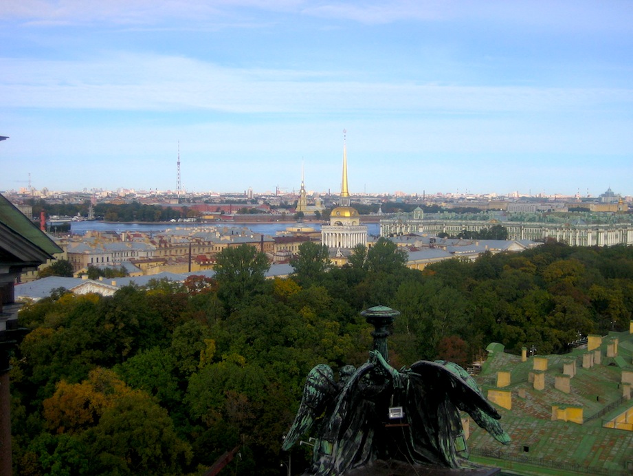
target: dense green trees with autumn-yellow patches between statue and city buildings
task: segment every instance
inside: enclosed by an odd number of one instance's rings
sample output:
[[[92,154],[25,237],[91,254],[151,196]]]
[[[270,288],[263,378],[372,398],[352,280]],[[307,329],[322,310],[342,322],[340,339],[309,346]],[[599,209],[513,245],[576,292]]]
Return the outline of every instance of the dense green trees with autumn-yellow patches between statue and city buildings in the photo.
[[[628,328],[633,250],[554,242],[404,266],[380,240],[330,268],[302,246],[296,273],[265,279],[253,247],[227,248],[216,279],[154,281],[115,295],[58,291],[23,307],[30,329],[12,361],[16,475],[199,474],[241,445],[239,474],[276,475],[280,438],[317,363],[360,365],[370,326],[359,312],[401,312],[395,367],[421,358],[467,365],[491,341],[562,352],[579,334]],[[293,466],[305,464],[303,449]]]

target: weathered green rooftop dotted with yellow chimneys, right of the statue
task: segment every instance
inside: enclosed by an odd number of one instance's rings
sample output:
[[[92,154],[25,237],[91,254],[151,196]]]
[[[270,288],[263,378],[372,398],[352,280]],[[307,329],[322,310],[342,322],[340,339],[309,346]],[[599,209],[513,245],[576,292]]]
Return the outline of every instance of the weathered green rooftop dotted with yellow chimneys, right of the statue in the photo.
[[[602,336],[601,344],[592,351],[584,345],[569,354],[535,355],[524,362],[521,356],[502,349],[502,345],[489,346],[489,357],[477,380],[484,393],[511,393],[511,409],[496,407],[512,442],[500,446],[471,424],[471,457],[488,462],[485,457],[493,457],[493,464],[513,468],[519,474],[631,474],[633,431],[606,428],[603,424],[633,407],[633,400],[623,397],[623,372],[633,372],[633,334],[610,333]],[[596,352],[599,363],[588,358]],[[546,359],[546,369],[534,369],[538,358]],[[568,393],[555,387],[557,376],[563,376],[564,370],[575,374],[569,376]],[[496,387],[500,371],[510,374],[509,385],[502,388]],[[533,376],[538,373],[544,374],[542,390],[533,384]],[[582,409],[581,423],[553,421],[553,405]]]

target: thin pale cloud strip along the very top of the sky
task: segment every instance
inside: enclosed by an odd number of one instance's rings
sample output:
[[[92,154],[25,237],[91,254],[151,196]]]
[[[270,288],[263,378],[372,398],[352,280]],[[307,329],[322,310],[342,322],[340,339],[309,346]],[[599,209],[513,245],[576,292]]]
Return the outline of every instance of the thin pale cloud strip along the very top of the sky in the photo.
[[[210,21],[252,27],[262,13],[296,14],[370,25],[397,21],[475,21],[554,31],[628,32],[627,0],[4,0],[0,19],[31,25],[178,25]],[[546,14],[544,13],[546,12]],[[184,21],[184,23],[182,23]]]

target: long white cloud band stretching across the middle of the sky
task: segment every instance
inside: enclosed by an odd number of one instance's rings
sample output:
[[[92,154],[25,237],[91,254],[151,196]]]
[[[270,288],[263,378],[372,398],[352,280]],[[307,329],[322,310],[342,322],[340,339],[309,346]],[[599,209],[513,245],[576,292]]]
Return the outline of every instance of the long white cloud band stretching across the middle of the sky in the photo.
[[[0,59],[4,107],[233,113],[500,113],[630,107],[632,89],[362,82],[351,74],[240,69],[170,56]]]

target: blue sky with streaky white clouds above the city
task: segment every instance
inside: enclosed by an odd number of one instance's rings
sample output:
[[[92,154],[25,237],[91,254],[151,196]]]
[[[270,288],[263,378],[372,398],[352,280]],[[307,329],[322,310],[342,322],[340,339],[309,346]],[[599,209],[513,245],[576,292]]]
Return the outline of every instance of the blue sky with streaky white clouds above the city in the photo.
[[[633,195],[630,0],[3,0],[0,191]],[[346,130],[345,139],[343,131]]]

